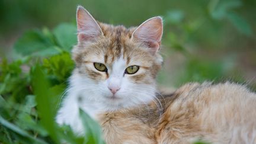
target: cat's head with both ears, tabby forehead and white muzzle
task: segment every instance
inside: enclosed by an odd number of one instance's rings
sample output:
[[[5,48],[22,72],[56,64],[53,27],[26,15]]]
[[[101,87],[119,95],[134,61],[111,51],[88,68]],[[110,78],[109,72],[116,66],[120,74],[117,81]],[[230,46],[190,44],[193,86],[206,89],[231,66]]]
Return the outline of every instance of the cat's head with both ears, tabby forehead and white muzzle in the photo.
[[[82,99],[105,110],[134,107],[155,97],[155,78],[162,64],[158,51],[162,18],[125,28],[95,21],[79,6],[78,44],[72,55],[76,69],[71,86]]]

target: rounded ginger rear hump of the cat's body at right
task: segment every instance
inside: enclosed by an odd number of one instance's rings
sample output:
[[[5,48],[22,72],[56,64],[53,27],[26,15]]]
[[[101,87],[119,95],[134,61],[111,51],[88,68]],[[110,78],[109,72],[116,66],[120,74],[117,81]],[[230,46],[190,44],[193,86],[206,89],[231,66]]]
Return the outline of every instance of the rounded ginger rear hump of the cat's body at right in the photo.
[[[256,94],[244,85],[190,83],[177,89],[161,117],[158,143],[256,143]]]

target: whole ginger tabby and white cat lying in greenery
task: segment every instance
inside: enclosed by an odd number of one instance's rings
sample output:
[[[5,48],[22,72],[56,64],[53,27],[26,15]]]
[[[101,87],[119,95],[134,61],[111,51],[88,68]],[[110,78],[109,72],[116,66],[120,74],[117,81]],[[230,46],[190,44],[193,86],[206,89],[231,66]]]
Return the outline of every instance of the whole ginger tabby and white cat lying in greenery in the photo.
[[[76,12],[76,63],[56,121],[84,133],[79,108],[100,123],[106,143],[256,143],[256,94],[244,85],[188,83],[156,89],[161,17],[125,28]]]

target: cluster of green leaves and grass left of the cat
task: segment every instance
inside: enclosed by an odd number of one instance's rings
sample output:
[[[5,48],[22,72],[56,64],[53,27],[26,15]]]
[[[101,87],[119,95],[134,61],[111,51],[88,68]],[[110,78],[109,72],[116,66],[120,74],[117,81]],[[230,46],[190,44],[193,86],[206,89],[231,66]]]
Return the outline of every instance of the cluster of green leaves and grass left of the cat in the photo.
[[[100,126],[83,111],[81,119],[88,135],[75,136],[69,126],[55,123],[73,69],[69,51],[76,39],[74,28],[71,24],[60,24],[53,32],[47,28],[27,31],[15,43],[23,58],[13,62],[2,60],[0,142],[104,143]]]

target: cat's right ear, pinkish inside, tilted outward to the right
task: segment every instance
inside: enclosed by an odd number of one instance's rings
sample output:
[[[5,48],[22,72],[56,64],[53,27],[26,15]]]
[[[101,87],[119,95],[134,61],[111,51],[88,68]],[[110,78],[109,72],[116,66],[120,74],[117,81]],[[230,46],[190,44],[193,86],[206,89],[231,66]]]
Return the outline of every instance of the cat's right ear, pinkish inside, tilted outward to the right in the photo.
[[[161,46],[163,24],[161,17],[153,17],[140,24],[132,34],[132,39],[146,44],[153,54],[158,52]]]

